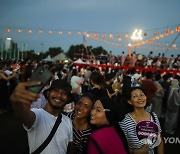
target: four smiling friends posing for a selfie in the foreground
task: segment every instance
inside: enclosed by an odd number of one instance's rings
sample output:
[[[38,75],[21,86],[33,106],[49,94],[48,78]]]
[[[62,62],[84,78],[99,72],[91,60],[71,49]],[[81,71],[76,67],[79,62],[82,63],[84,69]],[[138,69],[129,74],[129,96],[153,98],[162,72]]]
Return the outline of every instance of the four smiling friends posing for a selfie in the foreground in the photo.
[[[40,85],[40,82],[21,82],[16,86],[10,101],[14,114],[27,131],[29,153],[46,140],[61,115],[61,123],[43,154],[153,154],[155,149],[158,154],[163,154],[161,126],[157,115],[145,110],[147,96],[141,87],[131,87],[126,91],[122,108],[96,84],[96,80],[99,78],[90,78],[93,89],[81,95],[74,111],[67,115],[63,109],[73,97],[67,80],[54,80],[43,91],[46,98],[44,108],[31,108],[40,95],[27,89]],[[142,142],[138,138],[136,126],[141,121],[156,123],[155,142]]]

